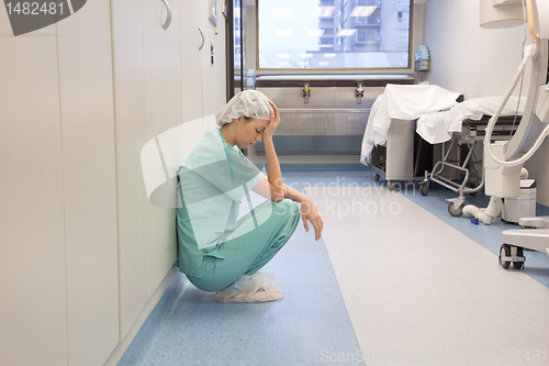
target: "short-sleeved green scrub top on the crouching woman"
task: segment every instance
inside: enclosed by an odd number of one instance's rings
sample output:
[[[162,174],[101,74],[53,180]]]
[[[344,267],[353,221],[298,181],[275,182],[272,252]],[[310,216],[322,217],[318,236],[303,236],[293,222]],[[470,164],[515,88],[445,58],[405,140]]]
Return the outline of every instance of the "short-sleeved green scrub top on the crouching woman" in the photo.
[[[237,228],[240,199],[262,173],[237,146],[227,144],[219,127],[208,131],[179,167],[177,209],[179,267],[201,278],[204,256]]]

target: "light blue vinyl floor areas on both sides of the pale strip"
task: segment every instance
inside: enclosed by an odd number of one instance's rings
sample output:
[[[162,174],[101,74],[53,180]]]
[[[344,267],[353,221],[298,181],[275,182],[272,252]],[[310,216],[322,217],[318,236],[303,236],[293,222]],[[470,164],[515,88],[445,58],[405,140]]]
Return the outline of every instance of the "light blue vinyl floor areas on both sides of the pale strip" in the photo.
[[[300,190],[317,184],[385,185],[373,181],[366,168],[283,171],[283,177],[285,184]],[[494,254],[500,249],[501,231],[516,228],[501,219],[492,225],[473,225],[464,217],[451,217],[445,198],[455,198],[457,193],[435,185],[426,197],[419,195],[417,184],[401,188],[401,192]],[[468,196],[466,203],[485,207],[488,201],[479,193]],[[537,214],[549,212],[539,206]],[[341,249],[345,251],[345,243]],[[527,252],[526,255],[524,273],[549,287],[547,254]],[[284,293],[282,300],[217,303],[215,293],[194,288],[178,273],[119,365],[339,364],[340,359],[330,358],[328,350],[347,355],[345,363],[365,365],[358,357],[360,348],[354,325],[322,239],[315,242],[314,235],[305,233],[300,223],[292,239],[262,271],[276,274],[274,280]]]

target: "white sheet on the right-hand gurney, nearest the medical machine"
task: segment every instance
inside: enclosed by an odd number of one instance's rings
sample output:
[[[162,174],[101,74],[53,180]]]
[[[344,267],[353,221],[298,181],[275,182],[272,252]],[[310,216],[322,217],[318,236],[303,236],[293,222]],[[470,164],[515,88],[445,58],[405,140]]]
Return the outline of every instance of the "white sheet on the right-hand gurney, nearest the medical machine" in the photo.
[[[493,115],[500,108],[504,97],[486,97],[466,100],[449,111],[422,115],[417,120],[416,132],[430,144],[438,144],[451,138],[453,132],[461,132],[461,122],[466,119],[480,120],[483,115]],[[501,115],[522,115],[526,98],[511,97]],[[519,122],[519,121],[517,121]]]

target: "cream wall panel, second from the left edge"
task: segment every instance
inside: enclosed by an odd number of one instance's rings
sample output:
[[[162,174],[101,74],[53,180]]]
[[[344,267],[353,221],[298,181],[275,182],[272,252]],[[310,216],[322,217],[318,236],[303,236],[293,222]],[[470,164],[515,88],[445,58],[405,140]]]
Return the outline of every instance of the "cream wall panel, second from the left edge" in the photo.
[[[57,23],[70,365],[119,342],[114,109],[109,1]]]

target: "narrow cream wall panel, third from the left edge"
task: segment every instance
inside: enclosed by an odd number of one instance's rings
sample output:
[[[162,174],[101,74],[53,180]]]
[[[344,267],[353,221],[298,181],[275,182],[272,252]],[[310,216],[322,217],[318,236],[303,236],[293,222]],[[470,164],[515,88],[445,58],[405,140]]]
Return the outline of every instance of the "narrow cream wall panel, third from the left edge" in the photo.
[[[127,334],[148,293],[147,210],[141,149],[146,141],[143,3],[112,3],[116,136],[120,337]]]

